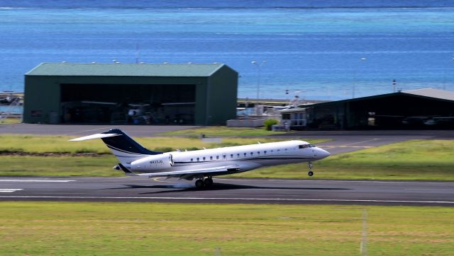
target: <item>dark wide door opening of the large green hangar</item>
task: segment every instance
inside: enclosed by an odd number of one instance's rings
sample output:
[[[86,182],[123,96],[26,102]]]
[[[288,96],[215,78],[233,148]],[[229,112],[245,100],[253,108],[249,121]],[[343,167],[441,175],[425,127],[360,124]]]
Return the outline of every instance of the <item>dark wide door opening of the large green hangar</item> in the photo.
[[[60,86],[64,123],[194,124],[193,84]]]

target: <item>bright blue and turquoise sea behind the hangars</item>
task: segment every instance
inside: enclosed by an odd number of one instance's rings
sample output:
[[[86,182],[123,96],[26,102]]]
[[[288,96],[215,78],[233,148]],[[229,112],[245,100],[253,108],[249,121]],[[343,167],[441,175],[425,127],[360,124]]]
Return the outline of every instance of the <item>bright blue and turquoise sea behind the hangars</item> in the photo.
[[[453,58],[454,1],[0,0],[0,91],[41,62],[221,62],[240,98],[339,100],[454,91]]]

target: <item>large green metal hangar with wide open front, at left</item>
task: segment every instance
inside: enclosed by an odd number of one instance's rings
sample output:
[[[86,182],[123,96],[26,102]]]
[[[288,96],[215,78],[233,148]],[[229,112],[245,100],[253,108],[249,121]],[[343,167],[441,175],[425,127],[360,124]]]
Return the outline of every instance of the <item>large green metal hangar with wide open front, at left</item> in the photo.
[[[226,124],[237,91],[226,64],[42,63],[25,76],[23,122]]]

